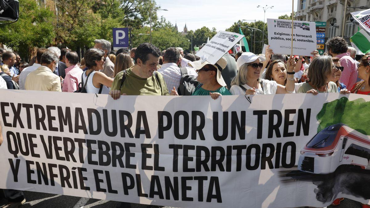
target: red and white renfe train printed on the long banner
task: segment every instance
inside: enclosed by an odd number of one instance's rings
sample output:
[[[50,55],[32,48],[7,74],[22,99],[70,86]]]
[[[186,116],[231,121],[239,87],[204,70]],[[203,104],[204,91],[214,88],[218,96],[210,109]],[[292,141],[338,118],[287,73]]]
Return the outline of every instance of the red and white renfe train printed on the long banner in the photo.
[[[339,166],[370,170],[370,136],[345,124],[318,132],[300,151],[298,170],[329,174]]]

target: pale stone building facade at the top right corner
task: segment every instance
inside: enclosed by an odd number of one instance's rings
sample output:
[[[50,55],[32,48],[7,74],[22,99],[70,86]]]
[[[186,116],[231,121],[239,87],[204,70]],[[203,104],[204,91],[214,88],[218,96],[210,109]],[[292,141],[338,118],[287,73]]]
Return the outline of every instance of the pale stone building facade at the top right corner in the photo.
[[[344,38],[349,38],[358,31],[357,22],[351,12],[370,8],[369,0],[347,0],[347,11],[344,15],[345,0],[298,0],[295,19],[299,21],[326,22],[325,39],[342,36],[343,19]]]

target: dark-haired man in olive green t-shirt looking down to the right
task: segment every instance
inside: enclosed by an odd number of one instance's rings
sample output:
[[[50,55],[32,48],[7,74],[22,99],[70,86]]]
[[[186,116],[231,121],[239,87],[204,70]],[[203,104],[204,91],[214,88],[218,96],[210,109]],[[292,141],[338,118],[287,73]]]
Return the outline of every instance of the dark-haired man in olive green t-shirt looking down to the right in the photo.
[[[120,95],[169,95],[162,74],[156,71],[160,55],[161,51],[152,44],[140,44],[135,51],[135,66],[114,77],[111,97],[117,100]],[[121,87],[124,74],[126,78]]]

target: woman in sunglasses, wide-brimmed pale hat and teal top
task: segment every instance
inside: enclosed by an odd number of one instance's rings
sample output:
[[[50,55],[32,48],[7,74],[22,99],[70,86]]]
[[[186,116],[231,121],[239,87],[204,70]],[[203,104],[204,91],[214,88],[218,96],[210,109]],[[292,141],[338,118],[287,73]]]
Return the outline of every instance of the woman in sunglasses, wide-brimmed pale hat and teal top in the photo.
[[[189,62],[189,66],[194,67],[196,73],[198,73],[197,80],[201,83],[191,95],[211,95],[215,100],[220,95],[231,95],[225,87],[226,83],[221,75],[221,71],[226,67],[227,63],[223,57],[216,64],[211,64],[208,61],[203,61],[202,63],[202,60]],[[178,95],[175,87],[170,95]]]

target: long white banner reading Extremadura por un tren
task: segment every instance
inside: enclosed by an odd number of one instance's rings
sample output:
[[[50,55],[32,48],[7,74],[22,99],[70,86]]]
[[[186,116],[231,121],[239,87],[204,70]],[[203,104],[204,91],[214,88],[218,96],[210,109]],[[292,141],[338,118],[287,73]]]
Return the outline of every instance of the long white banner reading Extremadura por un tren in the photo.
[[[173,207],[370,199],[367,95],[0,97],[0,188]]]

